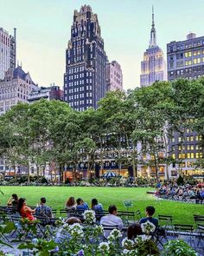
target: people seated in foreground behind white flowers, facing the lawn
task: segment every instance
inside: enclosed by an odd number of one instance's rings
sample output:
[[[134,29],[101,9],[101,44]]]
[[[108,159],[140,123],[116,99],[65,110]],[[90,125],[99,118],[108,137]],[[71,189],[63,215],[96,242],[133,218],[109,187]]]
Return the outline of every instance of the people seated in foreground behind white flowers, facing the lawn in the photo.
[[[22,219],[28,219],[30,221],[36,220],[38,218],[46,218],[48,220],[52,219],[53,213],[51,207],[48,207],[46,205],[46,198],[41,197],[40,203],[37,204],[35,209],[32,209],[31,207],[27,206],[27,201],[25,198],[19,198],[16,194],[12,194],[12,197],[7,203],[10,207],[16,207],[16,211],[21,215]],[[76,210],[80,212],[84,212],[89,209],[88,205],[84,200],[81,198],[78,198],[77,200],[74,199],[73,196],[71,196],[66,204],[65,208],[67,210]],[[92,199],[91,207],[93,211],[97,213],[103,213],[104,209],[102,204],[98,202],[97,199]],[[155,226],[158,226],[158,220],[153,217],[155,213],[154,207],[146,207],[145,210],[146,217],[142,218],[141,220],[131,224],[127,228],[127,236],[129,239],[133,240],[136,238],[137,235],[142,234],[141,224],[150,221]],[[115,205],[111,205],[108,208],[108,214],[105,215],[102,214],[99,219],[99,224],[102,226],[114,226],[115,228],[118,228],[122,230],[124,228],[123,220],[117,216],[118,214],[118,208]],[[73,223],[80,223],[83,222],[83,220],[80,220],[77,217],[70,217],[69,211],[67,211],[67,220],[65,225],[72,225]],[[52,222],[48,221],[47,224],[51,224]],[[107,238],[108,235],[111,233],[111,230],[105,230],[104,235]],[[63,229],[63,226],[59,228],[55,235],[55,242],[62,243],[64,240],[68,240],[70,238],[70,234],[66,232],[66,230]]]

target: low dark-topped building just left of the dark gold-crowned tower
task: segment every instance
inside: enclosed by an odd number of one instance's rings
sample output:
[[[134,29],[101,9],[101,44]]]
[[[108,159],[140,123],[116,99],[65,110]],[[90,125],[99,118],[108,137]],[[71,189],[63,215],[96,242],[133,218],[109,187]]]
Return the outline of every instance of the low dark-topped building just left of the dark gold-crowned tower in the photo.
[[[64,92],[60,86],[52,85],[50,87],[40,87],[32,90],[28,96],[28,102],[37,102],[41,99],[63,101],[63,98]]]

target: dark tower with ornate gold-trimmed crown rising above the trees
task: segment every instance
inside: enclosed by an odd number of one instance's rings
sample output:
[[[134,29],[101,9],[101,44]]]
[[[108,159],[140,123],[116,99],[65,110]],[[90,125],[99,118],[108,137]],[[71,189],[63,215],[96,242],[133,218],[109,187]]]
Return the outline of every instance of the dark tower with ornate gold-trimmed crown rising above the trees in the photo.
[[[98,16],[89,5],[74,10],[71,39],[66,50],[65,101],[75,110],[97,108],[105,97],[104,40]]]

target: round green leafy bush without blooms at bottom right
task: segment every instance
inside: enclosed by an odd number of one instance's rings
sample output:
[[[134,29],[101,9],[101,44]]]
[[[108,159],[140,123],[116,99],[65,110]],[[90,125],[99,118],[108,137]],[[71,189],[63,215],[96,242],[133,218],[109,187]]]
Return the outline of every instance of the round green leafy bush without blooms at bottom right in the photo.
[[[183,240],[170,240],[165,244],[163,256],[196,256],[194,249]]]

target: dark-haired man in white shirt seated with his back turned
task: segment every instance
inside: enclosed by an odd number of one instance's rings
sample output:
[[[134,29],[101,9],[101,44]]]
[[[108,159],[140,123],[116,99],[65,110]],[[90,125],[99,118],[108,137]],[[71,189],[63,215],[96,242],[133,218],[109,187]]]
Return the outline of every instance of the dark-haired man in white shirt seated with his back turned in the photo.
[[[112,226],[118,226],[118,229],[122,229],[124,227],[123,220],[121,220],[119,217],[117,217],[117,207],[112,205],[108,208],[109,214],[106,216],[103,216],[100,219],[100,225],[102,226],[110,226],[110,230],[105,230],[105,237],[107,238],[109,234],[111,233]]]

